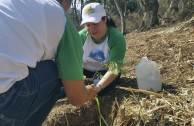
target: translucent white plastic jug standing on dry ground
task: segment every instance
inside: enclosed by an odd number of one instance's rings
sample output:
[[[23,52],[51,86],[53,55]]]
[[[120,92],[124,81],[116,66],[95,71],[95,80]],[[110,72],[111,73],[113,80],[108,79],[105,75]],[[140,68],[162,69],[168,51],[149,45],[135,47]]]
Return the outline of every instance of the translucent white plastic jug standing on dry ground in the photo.
[[[160,71],[156,62],[142,57],[135,69],[139,89],[160,91],[162,88]]]

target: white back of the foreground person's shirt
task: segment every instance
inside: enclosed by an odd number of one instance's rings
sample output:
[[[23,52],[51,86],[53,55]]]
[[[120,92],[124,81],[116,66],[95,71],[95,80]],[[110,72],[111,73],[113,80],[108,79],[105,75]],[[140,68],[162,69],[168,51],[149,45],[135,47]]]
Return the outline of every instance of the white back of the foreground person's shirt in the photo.
[[[0,0],[0,93],[54,58],[65,23],[55,0]]]

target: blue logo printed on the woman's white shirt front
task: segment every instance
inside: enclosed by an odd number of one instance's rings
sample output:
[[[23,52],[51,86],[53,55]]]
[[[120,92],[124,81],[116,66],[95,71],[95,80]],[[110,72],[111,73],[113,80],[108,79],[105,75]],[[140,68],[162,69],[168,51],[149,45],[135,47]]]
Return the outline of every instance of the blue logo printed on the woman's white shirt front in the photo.
[[[89,56],[91,59],[97,61],[97,62],[103,62],[105,60],[104,52],[99,49],[94,49],[89,53]]]

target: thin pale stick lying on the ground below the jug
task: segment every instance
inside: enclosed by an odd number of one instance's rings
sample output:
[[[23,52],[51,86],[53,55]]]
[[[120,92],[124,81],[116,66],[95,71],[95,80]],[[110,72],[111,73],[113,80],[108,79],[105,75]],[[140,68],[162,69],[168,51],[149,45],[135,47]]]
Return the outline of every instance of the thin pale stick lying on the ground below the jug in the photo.
[[[120,87],[120,86],[117,86],[117,88],[118,89],[123,89],[123,90],[126,90],[126,91],[141,92],[141,93],[144,93],[144,94],[154,95],[154,96],[157,96],[157,97],[162,96],[161,93],[155,93],[155,92],[152,92],[152,91],[147,91],[147,90],[142,90],[142,89],[126,88],[126,87]]]

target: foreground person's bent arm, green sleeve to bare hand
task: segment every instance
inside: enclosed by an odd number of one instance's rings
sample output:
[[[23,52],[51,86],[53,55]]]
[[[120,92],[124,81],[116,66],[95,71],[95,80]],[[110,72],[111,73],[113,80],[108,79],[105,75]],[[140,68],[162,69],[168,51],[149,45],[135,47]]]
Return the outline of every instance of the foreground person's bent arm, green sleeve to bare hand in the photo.
[[[68,100],[73,105],[82,105],[94,99],[95,86],[85,86],[83,77],[83,48],[77,29],[66,15],[66,26],[58,46],[56,62]]]

